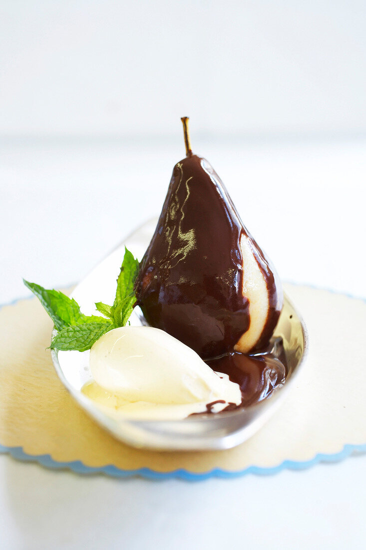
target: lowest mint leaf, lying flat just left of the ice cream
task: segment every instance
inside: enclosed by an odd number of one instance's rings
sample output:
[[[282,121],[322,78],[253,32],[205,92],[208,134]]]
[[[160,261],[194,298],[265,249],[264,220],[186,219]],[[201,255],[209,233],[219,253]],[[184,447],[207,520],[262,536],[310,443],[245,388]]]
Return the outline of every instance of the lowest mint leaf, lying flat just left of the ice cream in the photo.
[[[62,351],[86,351],[90,349],[103,334],[106,334],[106,332],[110,331],[112,328],[113,325],[108,322],[92,322],[64,327],[53,338],[51,348]]]

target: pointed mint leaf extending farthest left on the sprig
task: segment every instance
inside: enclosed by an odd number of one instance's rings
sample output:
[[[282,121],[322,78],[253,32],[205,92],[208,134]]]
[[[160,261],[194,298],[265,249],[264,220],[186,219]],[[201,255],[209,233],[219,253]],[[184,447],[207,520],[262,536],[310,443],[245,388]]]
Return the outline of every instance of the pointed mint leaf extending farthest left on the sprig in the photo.
[[[24,284],[41,301],[58,331],[65,326],[74,324],[106,322],[103,317],[84,315],[80,311],[79,304],[73,298],[69,298],[58,290],[46,290],[41,285],[28,281],[24,281]]]

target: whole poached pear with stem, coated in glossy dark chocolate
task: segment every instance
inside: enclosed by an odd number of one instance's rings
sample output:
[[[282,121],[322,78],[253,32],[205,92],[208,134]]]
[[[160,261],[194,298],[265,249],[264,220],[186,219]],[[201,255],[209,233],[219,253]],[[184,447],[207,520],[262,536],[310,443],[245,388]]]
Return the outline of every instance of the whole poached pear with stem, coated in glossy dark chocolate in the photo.
[[[186,158],[170,180],[137,277],[146,321],[203,359],[268,344],[282,309],[279,278],[243,226],[212,166],[193,155],[182,118]]]

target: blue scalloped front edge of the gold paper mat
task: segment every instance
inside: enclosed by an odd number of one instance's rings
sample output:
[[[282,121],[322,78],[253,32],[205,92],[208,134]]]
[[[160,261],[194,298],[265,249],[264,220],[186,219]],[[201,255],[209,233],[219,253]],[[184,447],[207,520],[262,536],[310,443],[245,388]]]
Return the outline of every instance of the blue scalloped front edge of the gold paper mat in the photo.
[[[366,453],[366,444],[364,445],[351,445],[347,444],[339,453],[334,454],[316,454],[314,458],[304,461],[284,460],[278,466],[273,467],[260,467],[249,466],[243,470],[228,471],[221,468],[213,468],[207,472],[198,474],[196,472],[190,472],[184,468],[173,470],[171,472],[157,472],[150,468],[138,468],[136,470],[120,470],[117,466],[107,465],[101,467],[86,466],[80,460],[74,460],[72,462],[58,462],[53,460],[49,454],[29,455],[26,454],[21,447],[4,447],[0,445],[0,453],[8,453],[17,460],[26,462],[36,462],[53,470],[71,470],[76,474],[91,475],[91,474],[105,474],[109,477],[126,478],[126,477],[144,477],[151,480],[165,480],[178,478],[185,481],[203,481],[210,477],[220,477],[224,479],[230,479],[234,477],[245,476],[247,474],[255,474],[260,476],[268,476],[279,474],[282,470],[306,470],[316,464],[323,463],[336,463],[344,460],[351,454]]]

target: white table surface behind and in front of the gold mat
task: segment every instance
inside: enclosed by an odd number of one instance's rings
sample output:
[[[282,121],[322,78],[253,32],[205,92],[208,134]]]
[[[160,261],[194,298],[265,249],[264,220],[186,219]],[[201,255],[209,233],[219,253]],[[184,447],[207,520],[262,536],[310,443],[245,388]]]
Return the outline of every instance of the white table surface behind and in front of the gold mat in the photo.
[[[76,282],[157,215],[182,145],[2,142],[0,303],[28,295],[21,277]],[[366,298],[366,140],[194,145],[283,279]],[[364,548],[365,467],[359,455],[274,476],[156,482],[0,455],[0,548]]]

